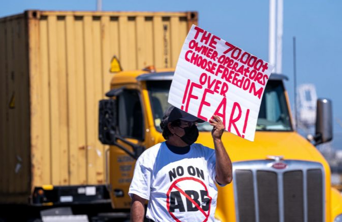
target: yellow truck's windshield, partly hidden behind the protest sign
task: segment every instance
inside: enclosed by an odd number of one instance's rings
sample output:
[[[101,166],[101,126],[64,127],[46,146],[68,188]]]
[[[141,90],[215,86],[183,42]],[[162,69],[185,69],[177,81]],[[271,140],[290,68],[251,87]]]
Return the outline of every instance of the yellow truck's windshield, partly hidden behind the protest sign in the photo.
[[[158,131],[162,131],[159,124],[167,107],[171,81],[147,81],[154,125]],[[199,131],[211,131],[212,126],[208,122],[198,124]],[[260,105],[257,122],[258,131],[291,131],[290,117],[284,87],[282,81],[270,80],[267,82],[265,92]]]

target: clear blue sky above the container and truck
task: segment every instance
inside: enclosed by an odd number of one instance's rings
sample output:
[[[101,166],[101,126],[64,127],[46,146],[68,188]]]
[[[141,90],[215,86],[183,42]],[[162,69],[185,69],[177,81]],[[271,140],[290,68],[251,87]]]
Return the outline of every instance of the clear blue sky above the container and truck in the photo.
[[[104,11],[198,11],[199,23],[215,35],[268,60],[268,0],[240,1],[113,1]],[[96,10],[96,0],[0,0],[0,17],[39,10]],[[293,108],[292,37],[297,39],[298,84],[313,83],[318,97],[333,101],[334,131],[342,133],[342,1],[285,0],[283,73]]]

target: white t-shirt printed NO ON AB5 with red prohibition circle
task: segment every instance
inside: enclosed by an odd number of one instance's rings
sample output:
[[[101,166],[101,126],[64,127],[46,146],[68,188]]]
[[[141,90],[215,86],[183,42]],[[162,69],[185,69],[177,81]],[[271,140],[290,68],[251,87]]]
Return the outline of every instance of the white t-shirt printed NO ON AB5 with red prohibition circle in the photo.
[[[215,150],[201,144],[176,154],[159,143],[136,161],[128,194],[149,200],[146,217],[155,222],[214,221],[215,165]]]

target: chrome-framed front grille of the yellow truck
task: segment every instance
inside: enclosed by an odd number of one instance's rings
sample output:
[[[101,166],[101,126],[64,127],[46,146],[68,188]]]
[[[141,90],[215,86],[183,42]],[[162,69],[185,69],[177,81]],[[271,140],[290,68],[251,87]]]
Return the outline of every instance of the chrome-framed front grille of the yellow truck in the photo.
[[[237,222],[324,221],[324,169],[307,161],[273,160],[233,163]]]

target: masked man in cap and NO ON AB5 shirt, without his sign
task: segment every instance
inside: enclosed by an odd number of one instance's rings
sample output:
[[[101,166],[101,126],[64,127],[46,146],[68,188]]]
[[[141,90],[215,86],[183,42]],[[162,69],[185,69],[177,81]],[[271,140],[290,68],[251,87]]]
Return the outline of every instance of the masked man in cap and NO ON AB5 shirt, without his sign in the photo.
[[[194,144],[197,117],[169,107],[161,128],[166,142],[147,149],[137,160],[129,188],[132,221],[214,221],[217,188],[232,182],[232,162],[222,144],[224,125],[213,116],[215,150]]]

